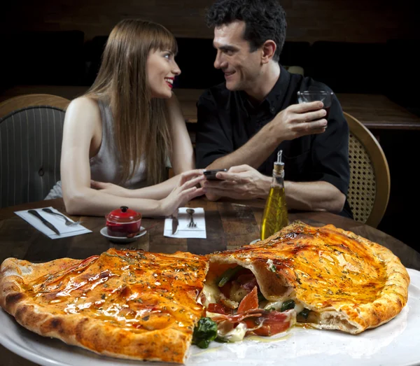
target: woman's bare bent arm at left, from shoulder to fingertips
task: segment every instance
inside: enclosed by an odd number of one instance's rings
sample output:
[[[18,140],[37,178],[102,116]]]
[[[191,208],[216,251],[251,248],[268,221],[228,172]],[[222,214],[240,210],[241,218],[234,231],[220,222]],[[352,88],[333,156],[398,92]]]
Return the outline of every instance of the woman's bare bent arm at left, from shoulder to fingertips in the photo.
[[[64,118],[61,177],[66,211],[73,215],[102,216],[119,206],[130,206],[144,216],[173,213],[180,204],[202,195],[195,188],[204,179],[200,171],[178,178],[167,198],[130,199],[90,188],[89,158],[97,153],[102,136],[102,122],[96,101],[81,97],[69,104]],[[99,139],[99,141],[98,141]]]

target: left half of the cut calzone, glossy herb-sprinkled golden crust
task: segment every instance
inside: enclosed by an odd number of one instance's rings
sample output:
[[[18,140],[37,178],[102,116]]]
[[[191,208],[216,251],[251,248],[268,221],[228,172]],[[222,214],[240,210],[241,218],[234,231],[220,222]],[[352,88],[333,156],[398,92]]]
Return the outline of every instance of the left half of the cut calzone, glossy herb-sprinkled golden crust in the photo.
[[[96,353],[183,363],[204,314],[204,256],[109,249],[1,265],[0,305],[25,328]]]

